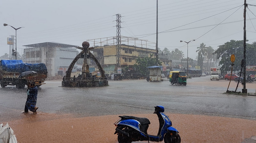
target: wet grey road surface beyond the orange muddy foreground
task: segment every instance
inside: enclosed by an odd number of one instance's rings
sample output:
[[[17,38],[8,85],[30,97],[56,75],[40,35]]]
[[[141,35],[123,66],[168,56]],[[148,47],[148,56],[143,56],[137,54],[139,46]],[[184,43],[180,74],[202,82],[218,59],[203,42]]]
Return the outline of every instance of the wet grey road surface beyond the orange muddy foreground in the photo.
[[[168,80],[141,79],[109,81],[108,87],[100,88],[64,88],[59,87],[61,81],[46,81],[38,90],[37,106],[41,112],[72,113],[75,117],[153,113],[154,106],[162,105],[173,113],[256,119],[255,96],[222,94],[229,81],[210,81],[206,76],[187,82],[187,86],[181,86],[171,85]],[[231,81],[229,90],[235,90],[235,84]],[[255,86],[248,83],[248,92],[255,92]],[[25,89],[7,86],[0,91],[0,119],[20,118]]]

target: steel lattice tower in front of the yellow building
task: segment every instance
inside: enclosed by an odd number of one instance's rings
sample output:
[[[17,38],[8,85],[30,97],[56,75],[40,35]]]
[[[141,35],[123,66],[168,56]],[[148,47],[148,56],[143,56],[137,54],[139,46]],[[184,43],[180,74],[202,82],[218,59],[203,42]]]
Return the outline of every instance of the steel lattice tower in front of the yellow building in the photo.
[[[121,14],[116,14],[116,71],[120,67],[121,28]]]

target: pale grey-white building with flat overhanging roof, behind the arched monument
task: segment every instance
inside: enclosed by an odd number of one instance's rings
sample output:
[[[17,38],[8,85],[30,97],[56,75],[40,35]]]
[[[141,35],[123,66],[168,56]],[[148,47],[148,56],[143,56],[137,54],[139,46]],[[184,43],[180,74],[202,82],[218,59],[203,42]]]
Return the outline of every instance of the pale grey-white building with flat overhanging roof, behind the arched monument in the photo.
[[[75,45],[68,45],[57,42],[44,42],[31,45],[24,45],[24,62],[45,63],[48,77],[65,75],[70,63],[77,55]],[[76,64],[73,68],[76,71]]]

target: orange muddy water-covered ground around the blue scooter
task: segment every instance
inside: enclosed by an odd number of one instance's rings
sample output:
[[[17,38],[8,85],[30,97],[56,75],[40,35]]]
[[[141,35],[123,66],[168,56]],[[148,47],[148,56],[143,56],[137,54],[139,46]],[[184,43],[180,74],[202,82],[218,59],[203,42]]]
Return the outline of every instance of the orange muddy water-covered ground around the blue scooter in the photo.
[[[256,135],[256,120],[171,113],[166,115],[172,120],[173,127],[180,132],[182,142],[233,143]],[[19,143],[116,143],[117,135],[114,135],[113,123],[119,119],[118,116],[73,118],[72,115],[42,112],[33,115],[30,112],[22,115],[21,120],[12,120],[8,124],[14,130]],[[148,133],[157,135],[159,123],[155,114],[132,116],[148,118],[151,121]]]

